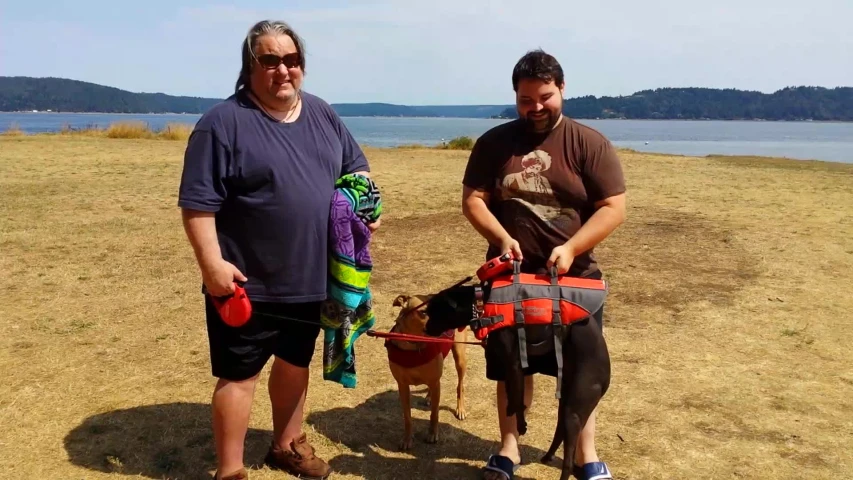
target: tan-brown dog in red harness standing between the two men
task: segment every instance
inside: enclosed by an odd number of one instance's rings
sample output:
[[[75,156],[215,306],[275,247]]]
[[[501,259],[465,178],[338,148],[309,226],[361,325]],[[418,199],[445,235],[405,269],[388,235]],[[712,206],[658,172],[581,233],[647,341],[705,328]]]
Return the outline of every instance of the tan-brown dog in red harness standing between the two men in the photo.
[[[395,307],[403,307],[394,321],[392,332],[405,333],[409,335],[424,336],[424,327],[427,317],[423,308],[424,302],[428,302],[430,295],[400,295],[394,300]],[[454,338],[457,341],[466,341],[468,330],[462,332],[449,330],[442,334],[444,338]],[[400,392],[400,403],[403,408],[403,441],[400,449],[412,448],[412,412],[411,391],[409,387],[426,385],[429,389],[427,399],[430,405],[429,436],[427,443],[438,442],[438,409],[441,405],[441,375],[444,373],[444,359],[448,351],[453,352],[453,361],[456,364],[456,418],[465,419],[465,370],[466,353],[464,343],[424,343],[403,340],[388,339],[385,341],[388,350],[388,364],[391,374],[397,381]]]

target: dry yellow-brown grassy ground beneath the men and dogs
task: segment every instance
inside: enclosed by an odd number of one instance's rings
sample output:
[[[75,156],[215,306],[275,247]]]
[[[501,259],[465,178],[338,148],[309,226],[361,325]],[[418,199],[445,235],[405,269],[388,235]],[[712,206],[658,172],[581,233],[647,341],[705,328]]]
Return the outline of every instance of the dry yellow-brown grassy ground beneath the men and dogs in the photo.
[[[199,279],[176,203],[184,143],[0,138],[0,471],[17,478],[204,478],[213,386]],[[378,328],[393,298],[473,273],[459,212],[464,151],[368,150],[387,202],[374,240]],[[613,383],[598,447],[620,480],[853,477],[853,166],[625,152],[629,219],[598,249]],[[406,172],[412,169],[416,174]],[[846,287],[845,287],[846,285]],[[469,416],[395,452],[402,432],[381,340],[359,386],[321,378],[305,428],[336,478],[478,478],[496,447],[494,386],[469,347]],[[318,351],[321,346],[318,343]],[[271,436],[259,385],[247,462]],[[519,477],[554,425],[536,383]],[[258,467],[253,479],[286,478]]]

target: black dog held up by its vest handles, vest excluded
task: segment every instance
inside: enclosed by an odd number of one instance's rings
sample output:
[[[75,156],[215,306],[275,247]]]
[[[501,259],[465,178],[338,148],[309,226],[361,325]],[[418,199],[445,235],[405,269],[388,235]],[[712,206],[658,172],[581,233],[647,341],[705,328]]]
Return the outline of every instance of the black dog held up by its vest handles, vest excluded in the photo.
[[[483,298],[489,298],[489,285],[483,285]],[[436,294],[427,304],[428,321],[425,332],[437,336],[451,328],[470,326],[474,320],[475,287],[455,286]],[[610,354],[604,335],[595,320],[587,317],[562,327],[551,325],[524,325],[527,355],[557,355],[554,328],[562,339],[562,379],[557,386],[560,392],[559,413],[554,438],[542,463],[554,458],[563,444],[563,464],[560,480],[572,473],[575,448],[587,419],[610,386]],[[501,328],[486,338],[487,349],[500,353],[507,372],[507,416],[516,415],[518,432],[524,435],[527,422],[524,418],[524,376],[519,355],[519,327]]]

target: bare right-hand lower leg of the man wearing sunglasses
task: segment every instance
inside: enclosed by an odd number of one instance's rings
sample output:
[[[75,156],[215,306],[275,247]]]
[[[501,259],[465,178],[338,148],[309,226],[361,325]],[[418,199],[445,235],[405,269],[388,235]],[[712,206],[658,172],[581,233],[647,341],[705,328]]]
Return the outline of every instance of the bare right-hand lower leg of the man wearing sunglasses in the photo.
[[[308,369],[275,357],[269,379],[272,403],[273,439],[282,450],[302,434],[305,397],[308,394]]]

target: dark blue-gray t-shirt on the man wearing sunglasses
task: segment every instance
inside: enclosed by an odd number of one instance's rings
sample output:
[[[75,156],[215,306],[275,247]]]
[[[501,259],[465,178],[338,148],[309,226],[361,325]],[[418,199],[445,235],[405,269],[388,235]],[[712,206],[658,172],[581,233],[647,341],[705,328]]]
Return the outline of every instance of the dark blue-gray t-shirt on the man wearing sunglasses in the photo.
[[[335,181],[357,171],[367,159],[325,101],[303,92],[299,118],[280,123],[241,91],[196,124],[178,206],[216,212],[222,257],[246,275],[251,300],[319,301]]]

